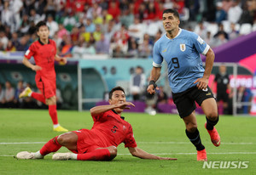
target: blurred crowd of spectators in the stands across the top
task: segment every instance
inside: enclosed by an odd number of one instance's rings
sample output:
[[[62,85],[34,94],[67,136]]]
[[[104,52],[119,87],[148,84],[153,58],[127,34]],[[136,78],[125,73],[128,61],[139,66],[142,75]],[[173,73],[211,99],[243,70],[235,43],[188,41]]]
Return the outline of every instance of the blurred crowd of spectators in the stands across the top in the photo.
[[[1,0],[0,50],[26,51],[45,20],[61,56],[151,58],[165,8],[212,48],[256,30],[256,0]]]

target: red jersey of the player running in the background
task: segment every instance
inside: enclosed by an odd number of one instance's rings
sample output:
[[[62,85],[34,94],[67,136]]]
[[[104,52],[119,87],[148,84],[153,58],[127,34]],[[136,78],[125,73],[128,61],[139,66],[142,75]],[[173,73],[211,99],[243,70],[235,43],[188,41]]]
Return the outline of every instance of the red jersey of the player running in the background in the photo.
[[[42,67],[41,71],[37,71],[37,75],[55,79],[55,54],[56,44],[49,39],[48,44],[44,44],[40,40],[33,42],[24,56],[26,59],[31,59],[33,56],[36,65]]]

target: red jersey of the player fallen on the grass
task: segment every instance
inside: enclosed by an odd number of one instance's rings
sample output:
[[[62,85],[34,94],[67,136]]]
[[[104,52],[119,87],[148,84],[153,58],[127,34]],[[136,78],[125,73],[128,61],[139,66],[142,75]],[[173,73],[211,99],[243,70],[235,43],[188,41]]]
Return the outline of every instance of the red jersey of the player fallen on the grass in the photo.
[[[90,131],[98,136],[96,140],[101,142],[103,147],[111,145],[117,147],[121,143],[124,143],[125,147],[137,147],[131,124],[114,110],[108,110],[98,116],[92,116],[92,118],[94,125]]]

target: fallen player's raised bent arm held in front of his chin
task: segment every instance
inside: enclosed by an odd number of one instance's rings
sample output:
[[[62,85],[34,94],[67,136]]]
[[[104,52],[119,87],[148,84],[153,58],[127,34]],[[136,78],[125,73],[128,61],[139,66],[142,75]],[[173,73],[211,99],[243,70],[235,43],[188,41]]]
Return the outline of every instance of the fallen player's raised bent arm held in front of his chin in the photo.
[[[99,106],[95,106],[93,108],[90,109],[90,115],[91,116],[97,116],[99,114],[102,114],[103,112],[106,112],[108,110],[114,110],[116,108],[125,110],[125,109],[130,109],[129,105],[135,107],[134,104],[132,104],[131,102],[124,102],[122,104],[108,104],[108,105],[99,105]]]

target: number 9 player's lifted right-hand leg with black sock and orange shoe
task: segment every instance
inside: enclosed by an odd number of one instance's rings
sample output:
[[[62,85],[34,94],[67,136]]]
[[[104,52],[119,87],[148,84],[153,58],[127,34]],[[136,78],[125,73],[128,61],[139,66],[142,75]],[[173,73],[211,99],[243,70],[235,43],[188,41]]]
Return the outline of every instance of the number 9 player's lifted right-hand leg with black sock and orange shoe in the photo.
[[[210,134],[212,144],[219,146],[220,137],[218,135],[217,129],[214,127],[218,123],[218,107],[215,99],[205,99],[201,104],[201,108],[207,116],[205,127],[207,132]]]

